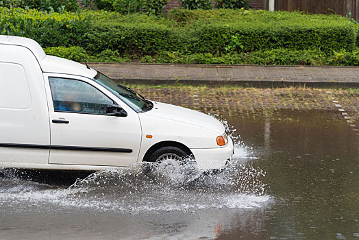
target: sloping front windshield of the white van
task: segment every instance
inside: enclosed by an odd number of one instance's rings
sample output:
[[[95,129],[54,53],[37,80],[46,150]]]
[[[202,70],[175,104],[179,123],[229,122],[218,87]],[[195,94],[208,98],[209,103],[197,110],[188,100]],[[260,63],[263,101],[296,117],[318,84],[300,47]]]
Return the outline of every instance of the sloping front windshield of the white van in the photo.
[[[100,72],[97,72],[94,80],[95,82],[108,89],[108,91],[119,97],[119,99],[124,101],[125,104],[138,113],[147,112],[153,108],[151,101],[146,100],[145,97],[139,93],[136,93],[131,88],[114,82],[114,80],[110,79],[110,77],[107,77]]]

